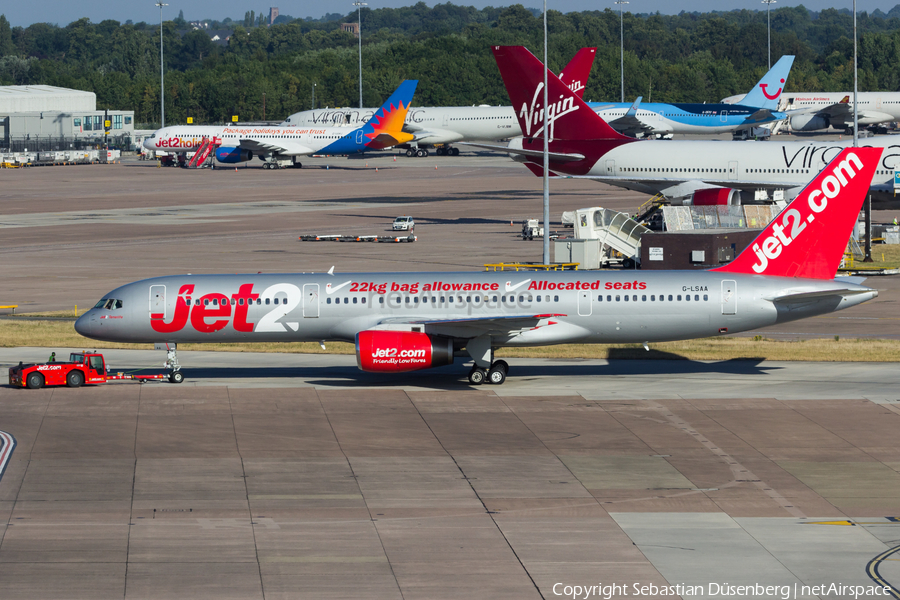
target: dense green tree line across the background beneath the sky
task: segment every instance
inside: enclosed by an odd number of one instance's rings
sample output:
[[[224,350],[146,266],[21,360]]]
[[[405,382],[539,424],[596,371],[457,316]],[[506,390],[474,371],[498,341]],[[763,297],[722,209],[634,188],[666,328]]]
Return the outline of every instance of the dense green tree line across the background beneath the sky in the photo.
[[[312,106],[358,103],[357,39],[341,30],[357,13],[325,19],[282,15],[271,27],[250,12],[227,44],[192,30],[183,15],[162,25],[169,124],[281,120]],[[284,17],[284,18],[282,18]],[[539,12],[521,5],[476,9],[424,3],[364,8],[363,99],[378,106],[403,79],[418,79],[418,106],[508,104],[490,47],[543,46]],[[584,46],[597,46],[585,91],[619,97],[619,13],[548,12],[549,65],[559,71]],[[765,11],[624,13],[626,99],[715,102],[745,93],[767,70]],[[772,62],[797,56],[789,91],[845,91],[853,85],[852,15],[834,9],[771,11]],[[252,26],[246,26],[252,25]],[[221,25],[221,23],[217,23]],[[900,5],[858,15],[859,89],[900,89]],[[159,24],[79,19],[64,27],[10,27],[0,16],[0,85],[92,91],[98,108],[134,110],[159,123]]]

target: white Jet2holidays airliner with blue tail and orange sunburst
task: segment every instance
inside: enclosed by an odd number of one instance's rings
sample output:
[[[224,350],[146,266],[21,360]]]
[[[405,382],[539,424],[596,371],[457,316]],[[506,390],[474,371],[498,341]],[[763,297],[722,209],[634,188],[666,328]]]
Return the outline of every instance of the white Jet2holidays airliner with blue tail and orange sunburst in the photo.
[[[215,147],[216,160],[221,163],[246,162],[258,156],[270,168],[275,166],[275,160],[283,158],[382,150],[413,139],[402,129],[417,83],[415,80],[401,83],[375,116],[356,129],[182,125],[160,129],[144,140],[144,147],[176,153]],[[301,164],[294,162],[294,166]]]

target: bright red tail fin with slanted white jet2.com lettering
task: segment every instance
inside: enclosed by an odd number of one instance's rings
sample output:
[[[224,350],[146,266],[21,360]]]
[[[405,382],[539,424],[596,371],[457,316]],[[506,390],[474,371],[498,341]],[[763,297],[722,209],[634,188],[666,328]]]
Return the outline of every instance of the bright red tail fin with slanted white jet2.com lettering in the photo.
[[[883,148],[845,148],[721,273],[834,279]]]

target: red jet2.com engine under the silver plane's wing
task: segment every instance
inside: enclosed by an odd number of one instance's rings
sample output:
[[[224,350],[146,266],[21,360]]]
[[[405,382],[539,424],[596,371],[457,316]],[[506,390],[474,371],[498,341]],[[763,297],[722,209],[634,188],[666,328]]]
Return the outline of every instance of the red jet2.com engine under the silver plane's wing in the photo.
[[[356,334],[363,371],[400,373],[453,364],[453,339],[418,331],[367,330]]]

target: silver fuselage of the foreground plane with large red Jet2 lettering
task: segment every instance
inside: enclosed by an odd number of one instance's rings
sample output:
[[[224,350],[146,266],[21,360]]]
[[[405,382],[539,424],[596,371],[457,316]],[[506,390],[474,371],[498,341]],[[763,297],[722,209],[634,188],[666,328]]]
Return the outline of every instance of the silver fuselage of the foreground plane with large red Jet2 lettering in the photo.
[[[712,271],[179,275],[110,292],[78,319],[116,342],[353,342],[371,329],[492,347],[661,342],[830,313],[878,292]]]

